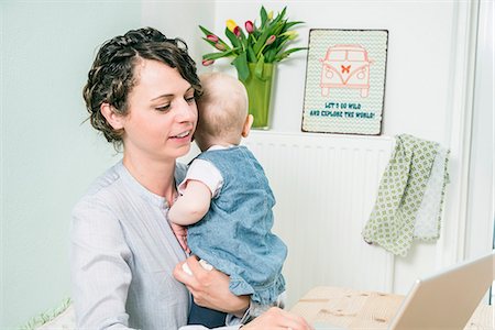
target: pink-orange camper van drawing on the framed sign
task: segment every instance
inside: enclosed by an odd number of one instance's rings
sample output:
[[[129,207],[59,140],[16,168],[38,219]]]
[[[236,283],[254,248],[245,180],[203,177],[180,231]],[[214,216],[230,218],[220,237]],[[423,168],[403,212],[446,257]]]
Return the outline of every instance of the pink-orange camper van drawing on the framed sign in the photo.
[[[370,64],[367,51],[361,45],[334,45],[320,59],[321,96],[328,97],[330,88],[361,89],[365,98],[370,91]]]

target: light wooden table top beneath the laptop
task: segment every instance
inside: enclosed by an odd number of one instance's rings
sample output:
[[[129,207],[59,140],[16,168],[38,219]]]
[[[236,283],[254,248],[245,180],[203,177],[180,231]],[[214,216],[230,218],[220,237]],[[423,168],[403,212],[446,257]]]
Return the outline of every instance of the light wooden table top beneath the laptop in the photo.
[[[404,296],[340,287],[316,287],[292,309],[310,323],[346,329],[387,329]],[[494,308],[480,305],[464,329],[494,329]]]

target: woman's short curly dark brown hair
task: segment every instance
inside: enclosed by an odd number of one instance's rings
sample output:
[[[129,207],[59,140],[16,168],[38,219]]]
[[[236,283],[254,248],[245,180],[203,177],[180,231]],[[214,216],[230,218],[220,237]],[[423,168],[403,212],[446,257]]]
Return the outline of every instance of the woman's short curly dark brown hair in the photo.
[[[141,59],[154,59],[177,68],[180,76],[195,89],[195,97],[202,94],[196,64],[180,38],[167,38],[152,28],[131,30],[124,35],[107,41],[98,51],[82,90],[89,121],[102,132],[116,148],[122,145],[122,130],[114,130],[101,114],[102,103],[109,103],[119,114],[128,114],[128,97],[136,85],[134,67]]]

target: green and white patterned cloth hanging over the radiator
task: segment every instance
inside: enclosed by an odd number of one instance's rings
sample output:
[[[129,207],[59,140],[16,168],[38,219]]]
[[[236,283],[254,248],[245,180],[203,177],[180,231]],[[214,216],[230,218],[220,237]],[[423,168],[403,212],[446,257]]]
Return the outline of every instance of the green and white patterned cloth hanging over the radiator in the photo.
[[[436,142],[396,136],[376,204],[362,232],[367,243],[405,256],[415,238],[439,238],[448,155],[449,151]],[[424,200],[425,191],[428,200]]]

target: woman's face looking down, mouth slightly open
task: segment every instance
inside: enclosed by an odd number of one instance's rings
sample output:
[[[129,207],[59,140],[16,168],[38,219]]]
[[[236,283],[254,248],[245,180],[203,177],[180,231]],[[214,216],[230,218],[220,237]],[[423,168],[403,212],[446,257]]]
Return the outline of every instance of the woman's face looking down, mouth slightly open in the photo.
[[[124,156],[160,162],[187,154],[198,118],[191,85],[157,61],[143,59],[134,69],[138,84],[122,119]]]

